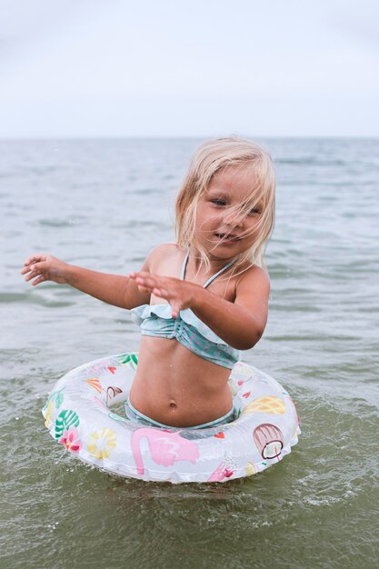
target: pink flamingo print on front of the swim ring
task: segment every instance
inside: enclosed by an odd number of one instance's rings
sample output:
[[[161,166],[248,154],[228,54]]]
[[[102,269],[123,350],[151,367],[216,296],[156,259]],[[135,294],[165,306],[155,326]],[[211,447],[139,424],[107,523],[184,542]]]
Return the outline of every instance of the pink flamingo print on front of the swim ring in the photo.
[[[145,474],[140,442],[146,438],[149,444],[150,455],[155,464],[172,466],[176,461],[187,460],[195,464],[199,458],[199,449],[193,441],[185,439],[179,433],[170,433],[165,429],[143,427],[132,434],[132,452],[135,457],[137,474]]]

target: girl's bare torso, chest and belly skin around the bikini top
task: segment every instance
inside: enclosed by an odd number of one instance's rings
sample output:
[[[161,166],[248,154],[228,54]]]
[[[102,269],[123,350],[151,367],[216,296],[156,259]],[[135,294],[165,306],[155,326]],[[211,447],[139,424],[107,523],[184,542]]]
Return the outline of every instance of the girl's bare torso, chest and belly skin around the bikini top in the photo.
[[[160,247],[160,253],[151,266],[156,275],[185,276],[196,284],[204,283],[214,275],[196,275],[187,267],[181,268],[186,253],[176,245]],[[234,302],[236,277],[212,279],[208,290]],[[165,304],[151,295],[150,304]],[[143,414],[159,423],[173,426],[202,424],[228,413],[232,394],[227,384],[231,370],[194,354],[175,339],[142,335],[138,369],[130,394],[131,403]]]

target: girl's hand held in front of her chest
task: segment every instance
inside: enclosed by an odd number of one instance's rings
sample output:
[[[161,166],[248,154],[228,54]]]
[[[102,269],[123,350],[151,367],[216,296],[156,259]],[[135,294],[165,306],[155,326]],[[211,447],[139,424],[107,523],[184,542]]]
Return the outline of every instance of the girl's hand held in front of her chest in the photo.
[[[197,284],[181,281],[172,276],[152,275],[145,271],[130,273],[129,277],[138,284],[141,292],[165,298],[173,309],[173,318],[177,318],[181,310],[189,308],[194,303]]]

